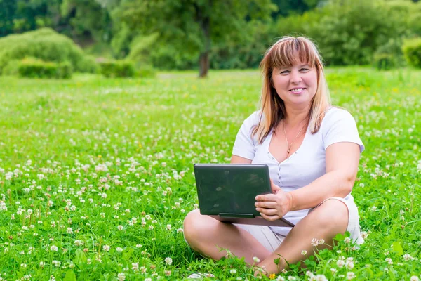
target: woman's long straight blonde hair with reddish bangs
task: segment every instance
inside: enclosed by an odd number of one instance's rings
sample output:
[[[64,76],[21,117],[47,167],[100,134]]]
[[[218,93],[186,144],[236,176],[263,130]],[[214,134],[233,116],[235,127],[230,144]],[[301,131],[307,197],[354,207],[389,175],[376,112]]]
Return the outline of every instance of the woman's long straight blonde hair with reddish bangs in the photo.
[[[308,117],[310,131],[316,133],[320,129],[321,121],[330,106],[330,94],[319,51],[306,37],[283,37],[266,51],[260,62],[263,74],[260,120],[252,132],[252,136],[258,136],[259,143],[262,143],[270,131],[286,117],[285,103],[279,98],[272,84],[272,72],[274,68],[291,67],[299,62],[316,68],[317,89]]]

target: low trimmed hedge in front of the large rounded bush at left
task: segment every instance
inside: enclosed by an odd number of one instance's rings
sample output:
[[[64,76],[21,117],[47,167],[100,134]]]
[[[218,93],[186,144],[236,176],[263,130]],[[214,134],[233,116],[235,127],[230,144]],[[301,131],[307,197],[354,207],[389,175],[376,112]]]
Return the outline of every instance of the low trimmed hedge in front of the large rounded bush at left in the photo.
[[[17,72],[20,77],[65,79],[72,77],[72,65],[68,62],[44,62],[35,58],[25,58],[16,67],[8,65],[9,70]]]

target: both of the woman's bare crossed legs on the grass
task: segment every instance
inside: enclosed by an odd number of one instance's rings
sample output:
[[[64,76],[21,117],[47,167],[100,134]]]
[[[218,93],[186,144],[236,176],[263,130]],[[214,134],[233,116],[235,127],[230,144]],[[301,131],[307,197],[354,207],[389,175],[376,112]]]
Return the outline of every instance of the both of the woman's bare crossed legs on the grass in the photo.
[[[225,253],[219,248],[225,248],[236,256],[243,256],[249,264],[253,264],[253,257],[257,256],[261,261],[258,266],[265,267],[268,273],[278,273],[286,268],[286,261],[293,264],[302,260],[302,250],[312,254],[313,238],[323,239],[326,244],[331,245],[335,235],[345,233],[347,230],[348,217],[345,203],[339,200],[326,200],[302,218],[272,253],[246,230],[229,223],[221,223],[210,216],[203,216],[199,210],[187,214],[184,234],[192,249],[203,256],[220,259]],[[326,244],[320,245],[318,249],[327,247]],[[279,256],[283,259],[280,259],[276,266],[274,259]]]

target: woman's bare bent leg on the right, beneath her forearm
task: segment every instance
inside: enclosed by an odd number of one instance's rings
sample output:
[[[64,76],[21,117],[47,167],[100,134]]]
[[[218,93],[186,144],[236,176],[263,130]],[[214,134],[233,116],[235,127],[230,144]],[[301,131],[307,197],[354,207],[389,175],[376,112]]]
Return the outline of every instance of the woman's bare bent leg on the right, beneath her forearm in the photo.
[[[288,233],[282,244],[267,258],[258,264],[264,267],[267,273],[279,273],[286,268],[287,263],[293,264],[305,259],[302,250],[308,255],[314,254],[311,242],[313,238],[323,239],[326,244],[332,245],[333,237],[338,233],[345,233],[348,226],[348,208],[339,200],[327,200],[314,209]],[[320,245],[317,249],[328,246]],[[279,259],[276,266],[274,259]],[[286,261],[285,261],[286,260]]]

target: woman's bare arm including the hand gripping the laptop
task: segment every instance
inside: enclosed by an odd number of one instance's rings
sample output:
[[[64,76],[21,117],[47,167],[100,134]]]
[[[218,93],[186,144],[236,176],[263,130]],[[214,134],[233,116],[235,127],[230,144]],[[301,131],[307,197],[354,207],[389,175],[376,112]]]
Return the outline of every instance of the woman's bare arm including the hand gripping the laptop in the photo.
[[[326,174],[297,190],[284,192],[272,182],[275,194],[258,195],[256,209],[269,221],[288,211],[316,207],[329,197],[345,197],[354,186],[358,171],[360,146],[356,143],[333,143],[326,148]]]

